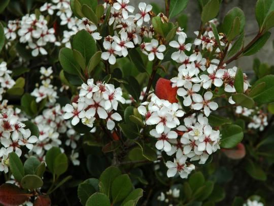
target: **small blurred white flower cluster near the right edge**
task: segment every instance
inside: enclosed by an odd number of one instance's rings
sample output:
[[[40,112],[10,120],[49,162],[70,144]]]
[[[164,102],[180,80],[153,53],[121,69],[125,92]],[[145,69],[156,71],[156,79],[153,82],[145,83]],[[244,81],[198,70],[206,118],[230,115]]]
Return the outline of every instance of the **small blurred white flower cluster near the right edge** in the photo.
[[[262,109],[248,109],[246,107],[237,106],[235,112],[236,114],[251,118],[250,123],[248,124],[249,129],[259,129],[260,131],[263,131],[268,125],[267,114],[264,113]]]

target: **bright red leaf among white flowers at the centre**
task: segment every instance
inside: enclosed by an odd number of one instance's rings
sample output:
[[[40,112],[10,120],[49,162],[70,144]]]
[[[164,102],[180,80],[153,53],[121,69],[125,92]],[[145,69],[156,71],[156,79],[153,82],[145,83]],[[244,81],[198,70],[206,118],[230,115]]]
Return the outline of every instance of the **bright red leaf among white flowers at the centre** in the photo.
[[[170,103],[177,103],[177,87],[172,87],[172,82],[168,79],[159,78],[155,86],[155,94],[159,99],[168,100]]]

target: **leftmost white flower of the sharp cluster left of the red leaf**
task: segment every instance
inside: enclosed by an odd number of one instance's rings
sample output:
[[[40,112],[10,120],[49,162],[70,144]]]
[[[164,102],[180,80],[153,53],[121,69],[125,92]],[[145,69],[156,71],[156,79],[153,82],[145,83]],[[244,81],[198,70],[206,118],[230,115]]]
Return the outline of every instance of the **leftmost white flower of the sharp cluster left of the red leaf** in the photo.
[[[80,119],[85,117],[84,107],[85,107],[85,104],[82,102],[78,104],[73,102],[72,105],[66,104],[64,107],[64,111],[66,112],[64,114],[64,119],[67,120],[73,117],[72,125],[77,125]]]

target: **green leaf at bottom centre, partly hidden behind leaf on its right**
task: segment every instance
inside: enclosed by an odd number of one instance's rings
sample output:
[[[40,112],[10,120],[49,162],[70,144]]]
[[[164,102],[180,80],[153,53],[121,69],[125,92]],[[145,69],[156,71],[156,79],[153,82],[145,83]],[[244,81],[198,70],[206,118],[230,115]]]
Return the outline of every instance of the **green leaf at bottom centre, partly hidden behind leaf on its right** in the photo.
[[[108,167],[105,171],[103,171],[99,178],[100,192],[110,197],[112,182],[120,174],[121,174],[120,169],[114,166]]]

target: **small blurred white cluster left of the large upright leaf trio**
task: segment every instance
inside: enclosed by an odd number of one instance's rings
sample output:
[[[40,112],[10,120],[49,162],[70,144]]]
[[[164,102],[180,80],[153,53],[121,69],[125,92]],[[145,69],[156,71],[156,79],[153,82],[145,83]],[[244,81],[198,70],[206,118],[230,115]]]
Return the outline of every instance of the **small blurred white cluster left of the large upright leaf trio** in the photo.
[[[41,102],[43,99],[48,99],[50,103],[55,103],[57,96],[56,88],[51,84],[52,79],[52,68],[41,67],[40,69],[40,79],[42,80],[42,85],[33,90],[31,95],[36,97],[36,102]]]

